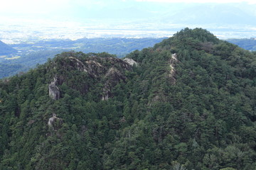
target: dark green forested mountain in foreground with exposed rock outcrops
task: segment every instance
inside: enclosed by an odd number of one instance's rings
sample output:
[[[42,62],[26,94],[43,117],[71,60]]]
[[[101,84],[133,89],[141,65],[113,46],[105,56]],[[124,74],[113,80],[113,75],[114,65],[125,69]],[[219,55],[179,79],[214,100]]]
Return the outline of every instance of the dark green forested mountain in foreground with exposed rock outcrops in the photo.
[[[64,52],[1,80],[0,169],[256,168],[252,52],[185,28],[126,58]]]

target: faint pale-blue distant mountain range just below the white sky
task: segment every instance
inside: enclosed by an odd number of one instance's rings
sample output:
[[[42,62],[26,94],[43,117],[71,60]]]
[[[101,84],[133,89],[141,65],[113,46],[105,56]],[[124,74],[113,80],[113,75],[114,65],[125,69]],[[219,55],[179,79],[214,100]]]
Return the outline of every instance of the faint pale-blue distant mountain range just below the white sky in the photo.
[[[124,2],[123,2],[124,4]],[[70,18],[139,18],[148,22],[159,21],[160,23],[175,23],[193,25],[226,26],[242,25],[256,26],[255,4],[229,3],[229,4],[183,4],[183,3],[147,3],[146,5],[125,2],[126,5],[113,3],[107,8],[80,7],[80,10],[73,11]],[[119,6],[117,8],[117,6]]]

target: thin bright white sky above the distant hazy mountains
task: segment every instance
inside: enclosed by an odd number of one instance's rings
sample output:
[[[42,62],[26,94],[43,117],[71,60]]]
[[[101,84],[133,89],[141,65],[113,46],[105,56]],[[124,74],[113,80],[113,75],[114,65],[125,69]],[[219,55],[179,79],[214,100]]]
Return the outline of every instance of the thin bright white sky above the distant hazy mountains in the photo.
[[[142,4],[171,4],[171,3],[240,3],[256,4],[255,0],[2,0],[0,5],[1,16],[22,16],[35,14],[38,16],[48,13],[71,13],[80,8],[95,9],[106,6],[118,8],[124,5],[139,6]]]

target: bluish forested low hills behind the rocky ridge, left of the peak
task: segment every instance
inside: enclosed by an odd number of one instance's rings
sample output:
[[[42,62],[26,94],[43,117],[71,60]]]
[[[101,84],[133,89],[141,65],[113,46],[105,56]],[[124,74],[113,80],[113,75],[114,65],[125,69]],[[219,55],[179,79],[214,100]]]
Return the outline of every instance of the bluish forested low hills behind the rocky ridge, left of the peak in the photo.
[[[27,72],[36,64],[46,63],[48,58],[70,50],[82,52],[109,52],[117,57],[124,57],[134,50],[153,47],[164,38],[82,38],[78,40],[41,40],[21,42],[11,45],[18,50],[15,55],[0,56],[2,64],[0,79],[14,76],[19,72]],[[7,46],[7,45],[6,45]],[[0,42],[0,55],[1,55]],[[10,60],[11,59],[11,60]]]

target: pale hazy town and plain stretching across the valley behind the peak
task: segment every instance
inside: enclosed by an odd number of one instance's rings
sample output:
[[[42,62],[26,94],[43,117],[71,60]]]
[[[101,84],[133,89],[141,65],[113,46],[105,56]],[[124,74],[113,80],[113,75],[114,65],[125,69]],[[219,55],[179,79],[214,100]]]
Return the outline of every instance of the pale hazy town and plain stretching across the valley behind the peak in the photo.
[[[48,39],[69,39],[80,38],[163,38],[171,37],[184,26],[171,23],[134,21],[112,21],[90,19],[84,23],[74,21],[57,22],[38,21],[33,24],[6,23],[0,25],[0,40],[6,44],[18,44],[21,42],[33,43],[39,40]],[[100,23],[100,24],[99,24]],[[198,26],[188,25],[189,28]],[[255,38],[256,28],[234,28],[233,26],[206,28],[220,39],[228,38]]]

